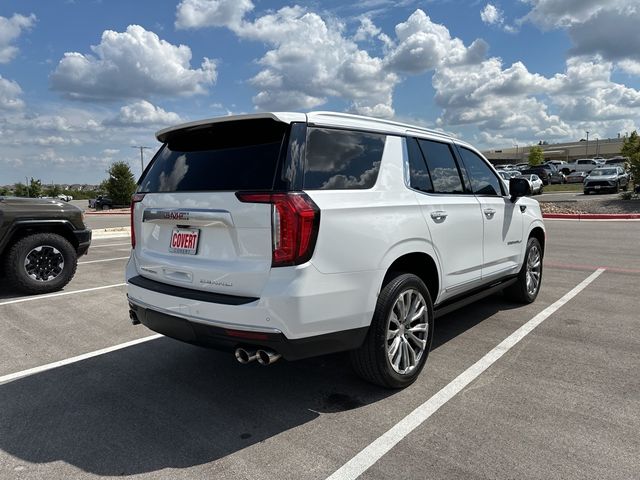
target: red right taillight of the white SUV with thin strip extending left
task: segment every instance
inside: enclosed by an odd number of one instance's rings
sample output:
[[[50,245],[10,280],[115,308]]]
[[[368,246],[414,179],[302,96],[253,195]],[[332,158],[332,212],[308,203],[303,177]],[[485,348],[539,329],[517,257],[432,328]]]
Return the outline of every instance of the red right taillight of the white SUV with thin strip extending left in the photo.
[[[320,209],[304,193],[236,193],[245,203],[271,204],[271,266],[300,265],[313,255]]]

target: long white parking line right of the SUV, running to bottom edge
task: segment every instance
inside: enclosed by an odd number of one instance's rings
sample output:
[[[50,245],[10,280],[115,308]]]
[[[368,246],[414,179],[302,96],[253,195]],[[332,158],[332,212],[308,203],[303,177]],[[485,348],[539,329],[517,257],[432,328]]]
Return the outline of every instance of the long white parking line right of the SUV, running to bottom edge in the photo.
[[[549,305],[542,312],[537,314],[527,323],[522,325],[518,330],[505,338],[498,346],[493,348],[484,357],[467,368],[457,378],[451,381],[446,387],[436,393],[429,400],[416,408],[409,415],[404,417],[393,427],[391,427],[382,436],[378,437],[367,447],[360,451],[355,457],[345,463],[336,470],[327,480],[352,480],[358,478],[373,464],[375,464],[383,455],[397,445],[404,437],[409,435],[413,430],[418,428],[431,415],[433,415],[440,407],[451,400],[463,388],[475,380],[482,372],[493,365],[500,357],[513,348],[520,340],[526,337],[538,325],[544,322],[555,311],[562,307],[584,290],[591,282],[598,278],[604,268],[599,268],[586,279],[584,279],[573,290],[568,292],[555,303]]]

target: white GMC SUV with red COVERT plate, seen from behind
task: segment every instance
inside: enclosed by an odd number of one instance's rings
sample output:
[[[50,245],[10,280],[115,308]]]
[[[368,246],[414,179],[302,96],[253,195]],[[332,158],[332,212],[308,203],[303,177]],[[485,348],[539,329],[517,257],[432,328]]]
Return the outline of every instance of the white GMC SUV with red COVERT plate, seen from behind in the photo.
[[[130,316],[269,364],[351,351],[386,387],[423,368],[436,317],[503,290],[532,302],[545,230],[443,133],[330,112],[158,132],[131,208]]]

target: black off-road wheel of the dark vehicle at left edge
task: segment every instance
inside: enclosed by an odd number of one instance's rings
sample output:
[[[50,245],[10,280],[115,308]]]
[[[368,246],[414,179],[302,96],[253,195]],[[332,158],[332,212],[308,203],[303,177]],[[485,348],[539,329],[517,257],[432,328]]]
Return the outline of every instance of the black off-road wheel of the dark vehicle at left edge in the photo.
[[[29,294],[50,293],[67,285],[76,273],[78,255],[55,233],[37,233],[14,243],[4,259],[9,284]]]

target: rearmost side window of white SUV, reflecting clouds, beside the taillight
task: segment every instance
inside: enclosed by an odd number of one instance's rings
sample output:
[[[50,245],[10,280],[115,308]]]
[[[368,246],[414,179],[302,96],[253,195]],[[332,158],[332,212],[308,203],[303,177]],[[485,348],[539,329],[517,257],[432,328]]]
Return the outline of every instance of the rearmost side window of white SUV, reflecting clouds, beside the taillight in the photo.
[[[307,130],[304,188],[371,188],[378,178],[385,135],[328,128]]]

